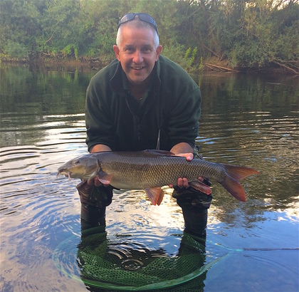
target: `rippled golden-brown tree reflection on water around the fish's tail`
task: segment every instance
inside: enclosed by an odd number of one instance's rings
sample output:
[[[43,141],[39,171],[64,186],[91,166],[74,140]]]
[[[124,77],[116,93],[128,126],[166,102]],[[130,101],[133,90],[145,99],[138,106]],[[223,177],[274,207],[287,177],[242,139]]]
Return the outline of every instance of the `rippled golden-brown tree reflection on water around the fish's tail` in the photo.
[[[206,118],[209,119],[209,116]],[[215,121],[215,117],[213,120]],[[252,117],[248,117],[248,127],[244,118],[240,127],[236,126],[236,122],[201,123],[201,136],[209,137],[206,142],[204,138],[199,139],[206,160],[247,165],[261,172],[259,176],[241,182],[247,194],[245,204],[236,201],[214,182],[212,204],[219,209],[215,216],[220,221],[232,222],[236,219],[235,216],[240,217],[238,218],[240,220],[241,214],[246,224],[250,221],[258,221],[259,215],[264,211],[292,209],[294,199],[298,196],[295,137],[290,134],[288,139],[277,138],[277,130],[271,132],[263,129],[265,121],[256,122],[251,128],[249,125],[251,120]],[[222,130],[232,126],[234,129],[231,131]],[[253,130],[254,128],[256,130]],[[217,140],[219,137],[221,139]],[[201,143],[200,140],[203,142]],[[231,210],[230,214],[226,213],[227,210]]]

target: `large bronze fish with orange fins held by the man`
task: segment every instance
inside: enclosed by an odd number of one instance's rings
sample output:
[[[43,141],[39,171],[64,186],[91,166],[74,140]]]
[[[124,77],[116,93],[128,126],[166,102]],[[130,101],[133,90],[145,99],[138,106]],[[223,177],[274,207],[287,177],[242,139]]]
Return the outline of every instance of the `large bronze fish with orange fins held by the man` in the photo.
[[[103,184],[117,189],[145,189],[154,205],[161,204],[163,186],[176,185],[179,177],[186,177],[189,185],[201,190],[199,177],[214,179],[241,202],[246,194],[241,179],[259,174],[251,167],[226,165],[194,158],[179,157],[164,150],[137,152],[95,152],[77,157],[58,168],[57,177],[93,180],[98,177]]]

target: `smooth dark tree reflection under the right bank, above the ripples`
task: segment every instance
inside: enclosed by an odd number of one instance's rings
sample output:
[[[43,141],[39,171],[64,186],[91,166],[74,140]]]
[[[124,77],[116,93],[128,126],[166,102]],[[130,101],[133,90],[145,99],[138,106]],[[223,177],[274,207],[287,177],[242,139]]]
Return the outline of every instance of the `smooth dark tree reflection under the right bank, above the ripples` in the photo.
[[[199,75],[194,80],[201,88],[202,113],[234,113],[273,111],[282,117],[298,110],[298,80],[251,74]]]

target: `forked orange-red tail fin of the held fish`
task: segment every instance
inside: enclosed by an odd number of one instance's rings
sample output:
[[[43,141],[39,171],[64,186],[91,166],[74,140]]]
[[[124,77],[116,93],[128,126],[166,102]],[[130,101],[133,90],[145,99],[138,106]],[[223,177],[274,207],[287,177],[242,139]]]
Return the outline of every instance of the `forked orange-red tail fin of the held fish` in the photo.
[[[224,165],[226,167],[228,175],[223,182],[220,182],[222,186],[236,199],[241,202],[246,201],[246,194],[243,187],[238,182],[241,179],[245,179],[251,174],[259,174],[257,170],[253,170],[250,167],[241,167],[236,165]]]

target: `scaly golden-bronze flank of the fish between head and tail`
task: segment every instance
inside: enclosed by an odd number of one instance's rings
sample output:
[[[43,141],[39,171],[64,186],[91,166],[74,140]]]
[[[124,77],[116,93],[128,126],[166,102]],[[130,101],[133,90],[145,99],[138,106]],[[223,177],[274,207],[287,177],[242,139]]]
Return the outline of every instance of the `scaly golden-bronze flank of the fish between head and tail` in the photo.
[[[189,182],[198,177],[209,177],[222,181],[225,167],[213,162],[171,155],[134,155],[134,152],[98,153],[100,169],[113,174],[111,184],[123,188],[146,188],[176,184],[178,177],[186,177]],[[124,185],[125,184],[125,185]]]

